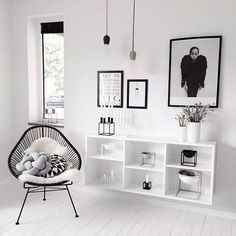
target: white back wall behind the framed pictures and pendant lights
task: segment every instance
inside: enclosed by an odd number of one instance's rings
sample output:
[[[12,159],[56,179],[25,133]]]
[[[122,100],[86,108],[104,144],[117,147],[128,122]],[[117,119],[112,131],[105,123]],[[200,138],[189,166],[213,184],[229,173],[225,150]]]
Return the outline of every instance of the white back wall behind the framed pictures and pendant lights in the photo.
[[[65,17],[65,129],[84,154],[84,136],[97,130],[96,72],[124,70],[125,78],[149,79],[149,109],[135,111],[135,132],[177,136],[174,116],[167,107],[169,39],[223,35],[220,108],[203,125],[203,138],[217,139],[214,207],[236,210],[236,15],[234,0],[137,1],[137,60],[131,49],[131,0],[110,1],[110,46],[104,36],[105,1],[15,0],[13,22],[15,140],[27,127],[26,17],[63,14]],[[125,87],[126,91],[126,87]]]

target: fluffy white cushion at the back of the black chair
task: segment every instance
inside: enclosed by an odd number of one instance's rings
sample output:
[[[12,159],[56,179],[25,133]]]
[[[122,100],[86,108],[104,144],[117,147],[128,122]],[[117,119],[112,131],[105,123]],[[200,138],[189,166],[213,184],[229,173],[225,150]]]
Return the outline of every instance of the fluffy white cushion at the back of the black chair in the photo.
[[[56,154],[58,156],[64,157],[67,152],[67,147],[60,145],[57,141],[44,137],[35,140],[31,146],[26,149],[25,154],[30,154],[33,152],[44,152],[49,154]]]

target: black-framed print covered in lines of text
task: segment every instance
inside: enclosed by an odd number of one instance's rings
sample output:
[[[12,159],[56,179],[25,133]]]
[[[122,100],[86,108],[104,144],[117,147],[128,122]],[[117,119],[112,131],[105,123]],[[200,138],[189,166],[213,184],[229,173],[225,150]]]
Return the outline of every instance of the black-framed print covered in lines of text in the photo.
[[[97,72],[97,106],[123,107],[124,71]]]

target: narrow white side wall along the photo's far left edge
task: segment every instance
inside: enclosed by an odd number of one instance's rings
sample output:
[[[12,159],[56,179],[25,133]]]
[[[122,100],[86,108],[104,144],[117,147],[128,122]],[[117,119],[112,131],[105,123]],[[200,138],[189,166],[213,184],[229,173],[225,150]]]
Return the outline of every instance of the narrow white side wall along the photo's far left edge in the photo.
[[[7,157],[11,150],[11,1],[0,0],[0,183],[9,177]]]

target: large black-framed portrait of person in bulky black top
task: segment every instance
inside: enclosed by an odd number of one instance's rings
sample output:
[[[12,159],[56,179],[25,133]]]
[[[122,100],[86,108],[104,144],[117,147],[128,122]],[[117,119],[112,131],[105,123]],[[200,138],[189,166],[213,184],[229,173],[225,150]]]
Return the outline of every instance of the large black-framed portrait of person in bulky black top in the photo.
[[[222,36],[170,40],[168,106],[218,107]]]

